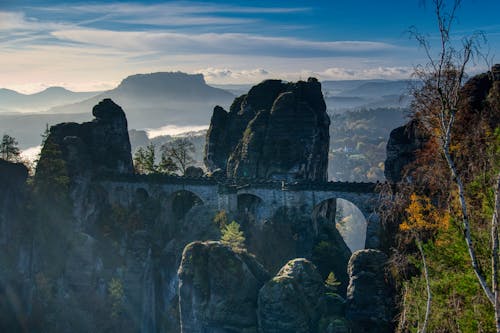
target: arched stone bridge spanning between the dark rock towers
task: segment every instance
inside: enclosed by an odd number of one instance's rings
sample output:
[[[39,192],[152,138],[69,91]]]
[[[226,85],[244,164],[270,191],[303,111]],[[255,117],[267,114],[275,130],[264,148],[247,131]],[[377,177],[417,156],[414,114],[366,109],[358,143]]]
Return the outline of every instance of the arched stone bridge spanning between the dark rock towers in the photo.
[[[201,204],[216,210],[235,212],[242,202],[253,202],[256,220],[270,219],[280,208],[297,208],[313,214],[315,207],[330,199],[344,199],[354,204],[367,222],[366,248],[379,246],[379,217],[376,183],[285,183],[238,179],[187,178],[167,175],[112,176],[97,180],[104,186],[110,200],[130,204],[137,193],[154,198],[172,198],[180,192],[194,194]]]

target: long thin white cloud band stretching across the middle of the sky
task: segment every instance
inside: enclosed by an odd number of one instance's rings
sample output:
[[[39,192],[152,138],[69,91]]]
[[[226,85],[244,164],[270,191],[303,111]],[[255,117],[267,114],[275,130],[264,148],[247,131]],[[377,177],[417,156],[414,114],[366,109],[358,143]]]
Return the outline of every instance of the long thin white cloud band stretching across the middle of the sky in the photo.
[[[53,31],[62,40],[128,51],[167,54],[245,54],[276,57],[361,56],[395,51],[396,46],[369,41],[316,42],[296,38],[233,33],[176,33],[73,29]]]

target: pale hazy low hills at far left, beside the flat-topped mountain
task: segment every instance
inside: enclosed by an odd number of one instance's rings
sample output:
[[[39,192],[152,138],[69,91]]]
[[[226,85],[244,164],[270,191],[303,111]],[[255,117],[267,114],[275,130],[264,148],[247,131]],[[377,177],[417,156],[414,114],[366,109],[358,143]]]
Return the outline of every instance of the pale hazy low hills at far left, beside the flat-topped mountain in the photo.
[[[99,93],[74,92],[62,87],[50,87],[28,95],[10,89],[0,89],[0,113],[45,111],[57,105],[82,101]]]

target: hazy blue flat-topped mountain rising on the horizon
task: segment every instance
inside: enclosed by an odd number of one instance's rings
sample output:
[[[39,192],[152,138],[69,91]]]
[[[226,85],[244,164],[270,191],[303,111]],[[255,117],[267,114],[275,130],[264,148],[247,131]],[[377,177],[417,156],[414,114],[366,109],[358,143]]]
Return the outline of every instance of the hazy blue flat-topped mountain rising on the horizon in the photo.
[[[202,74],[159,72],[125,78],[115,89],[85,101],[54,107],[50,113],[82,113],[104,98],[111,98],[127,112],[132,128],[158,124],[207,124],[207,107],[228,105],[234,96],[206,84]]]

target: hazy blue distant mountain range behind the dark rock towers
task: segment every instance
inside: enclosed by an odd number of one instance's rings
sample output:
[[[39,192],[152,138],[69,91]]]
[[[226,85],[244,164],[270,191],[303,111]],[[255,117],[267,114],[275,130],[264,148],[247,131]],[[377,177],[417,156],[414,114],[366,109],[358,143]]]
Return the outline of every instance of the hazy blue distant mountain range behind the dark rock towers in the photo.
[[[406,106],[408,83],[352,80],[324,81],[322,85],[327,107],[333,114],[359,108]],[[92,107],[103,98],[113,99],[125,110],[129,129],[207,125],[215,105],[227,109],[235,96],[246,93],[251,86],[210,86],[202,74],[159,72],[129,76],[105,92],[79,93],[52,87],[25,95],[0,89],[0,135],[16,137],[21,148],[38,145],[46,124],[90,120]]]

